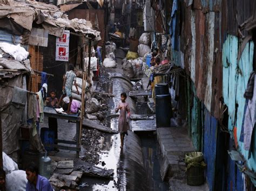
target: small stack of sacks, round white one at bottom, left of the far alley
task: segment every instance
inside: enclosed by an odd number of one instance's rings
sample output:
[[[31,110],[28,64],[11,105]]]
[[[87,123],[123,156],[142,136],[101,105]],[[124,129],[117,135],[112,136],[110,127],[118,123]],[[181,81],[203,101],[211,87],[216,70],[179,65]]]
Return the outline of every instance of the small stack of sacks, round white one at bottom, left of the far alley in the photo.
[[[116,51],[116,44],[113,42],[106,42],[106,58],[103,61],[103,66],[106,68],[116,68],[117,62],[114,56],[114,51]]]

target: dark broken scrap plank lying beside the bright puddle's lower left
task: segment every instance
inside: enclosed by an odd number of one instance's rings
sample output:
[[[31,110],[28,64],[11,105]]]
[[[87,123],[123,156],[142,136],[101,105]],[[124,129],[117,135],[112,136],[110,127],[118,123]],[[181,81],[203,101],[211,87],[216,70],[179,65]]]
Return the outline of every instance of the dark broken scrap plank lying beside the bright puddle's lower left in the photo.
[[[89,162],[85,162],[79,159],[74,161],[74,165],[74,170],[82,171],[84,175],[103,178],[113,178],[113,169],[100,168],[90,164]]]

